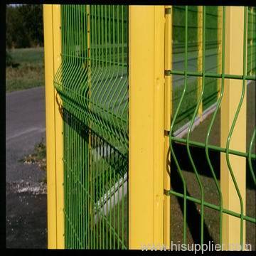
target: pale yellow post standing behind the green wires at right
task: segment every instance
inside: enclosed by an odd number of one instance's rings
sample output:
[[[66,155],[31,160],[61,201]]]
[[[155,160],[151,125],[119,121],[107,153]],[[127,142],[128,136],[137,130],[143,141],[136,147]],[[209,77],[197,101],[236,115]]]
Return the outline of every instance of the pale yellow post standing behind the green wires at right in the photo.
[[[244,7],[229,6],[225,12],[225,74],[242,75]],[[245,74],[246,75],[246,74]],[[225,79],[223,102],[220,112],[220,146],[226,147],[228,133],[242,95],[242,80]],[[242,107],[230,139],[230,149],[246,150],[246,90]],[[245,158],[230,155],[230,164],[240,190],[245,215]],[[227,165],[226,154],[220,156],[220,186],[223,192],[223,208],[240,213],[240,200]],[[240,244],[240,218],[223,215],[223,250],[228,245]],[[245,223],[243,226],[245,245]]]

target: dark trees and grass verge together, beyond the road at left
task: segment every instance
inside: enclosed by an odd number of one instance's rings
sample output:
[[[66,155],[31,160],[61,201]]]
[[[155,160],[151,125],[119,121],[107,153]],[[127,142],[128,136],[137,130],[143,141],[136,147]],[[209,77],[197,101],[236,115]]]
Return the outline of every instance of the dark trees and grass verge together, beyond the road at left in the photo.
[[[44,85],[43,6],[6,6],[6,92]]]

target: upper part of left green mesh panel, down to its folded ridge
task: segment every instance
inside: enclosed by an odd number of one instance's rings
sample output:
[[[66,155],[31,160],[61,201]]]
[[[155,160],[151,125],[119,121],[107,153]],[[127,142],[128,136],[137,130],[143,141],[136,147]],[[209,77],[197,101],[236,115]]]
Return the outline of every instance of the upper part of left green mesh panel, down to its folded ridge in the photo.
[[[64,5],[54,85],[68,111],[123,153],[128,147],[127,6]]]

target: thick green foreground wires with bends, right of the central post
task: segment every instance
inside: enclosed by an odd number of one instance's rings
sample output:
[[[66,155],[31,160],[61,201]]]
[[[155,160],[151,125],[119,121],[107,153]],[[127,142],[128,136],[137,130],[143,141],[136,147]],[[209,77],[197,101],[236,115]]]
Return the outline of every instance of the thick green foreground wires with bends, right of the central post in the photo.
[[[182,91],[182,95],[180,97],[180,100],[178,102],[178,106],[176,107],[176,110],[174,112],[174,117],[171,120],[171,129],[170,129],[170,135],[169,135],[169,143],[170,143],[170,151],[171,151],[171,156],[172,159],[171,161],[174,161],[174,166],[176,166],[176,171],[178,174],[178,178],[181,181],[181,189],[179,189],[180,191],[177,191],[174,188],[171,188],[170,191],[166,191],[166,194],[169,194],[170,196],[176,196],[177,198],[181,198],[182,201],[182,208],[183,208],[183,243],[186,243],[187,239],[188,239],[188,233],[187,233],[187,225],[188,225],[188,218],[190,217],[188,215],[188,204],[193,202],[199,205],[200,207],[200,222],[198,223],[200,225],[200,242],[201,244],[203,244],[203,242],[206,240],[206,230],[204,227],[204,221],[206,218],[206,208],[208,209],[212,209],[212,210],[216,210],[218,211],[218,215],[219,215],[219,241],[220,244],[222,244],[223,242],[223,213],[228,214],[228,215],[232,215],[235,216],[236,218],[240,219],[240,245],[242,247],[242,245],[245,244],[245,241],[243,240],[243,227],[245,227],[245,221],[247,221],[248,223],[256,223],[256,218],[255,216],[249,215],[247,212],[245,213],[245,211],[243,210],[243,204],[245,202],[242,201],[242,196],[240,193],[240,189],[238,187],[238,181],[235,178],[235,175],[233,173],[233,169],[234,166],[230,163],[230,155],[235,155],[235,156],[240,156],[240,157],[245,157],[247,163],[248,163],[248,177],[249,177],[249,181],[251,181],[252,183],[252,188],[255,189],[256,186],[256,180],[255,180],[255,164],[252,163],[252,160],[255,161],[256,156],[255,154],[253,154],[252,151],[252,145],[255,144],[255,127],[252,131],[252,137],[250,139],[250,144],[249,147],[247,149],[247,152],[243,152],[243,151],[238,151],[238,150],[232,150],[230,149],[230,138],[233,136],[233,130],[235,127],[235,124],[238,120],[238,114],[240,112],[240,108],[242,105],[242,102],[244,100],[245,97],[245,86],[246,86],[246,81],[247,80],[252,80],[255,82],[255,76],[252,75],[248,75],[247,73],[247,63],[248,63],[248,56],[246,55],[247,52],[247,7],[245,7],[244,9],[244,33],[243,33],[243,63],[242,63],[242,75],[235,75],[235,74],[225,74],[225,7],[223,7],[222,10],[222,24],[223,24],[223,29],[222,29],[222,53],[221,53],[221,71],[220,73],[207,73],[206,72],[206,68],[205,68],[205,64],[206,64],[206,6],[203,6],[203,34],[202,34],[202,49],[203,49],[203,62],[202,62],[202,72],[201,73],[196,73],[196,72],[189,72],[188,71],[188,6],[185,7],[185,60],[184,60],[184,68],[183,71],[180,72],[178,70],[170,70],[169,75],[183,75],[184,77],[184,87],[183,87],[183,91]],[[251,38],[255,38],[255,36],[251,35]],[[251,43],[253,45],[253,43]],[[202,88],[201,88],[201,93],[198,97],[198,99],[196,100],[196,106],[193,107],[193,116],[190,119],[189,122],[189,127],[188,127],[188,133],[186,135],[186,138],[177,138],[174,136],[174,127],[175,124],[177,122],[177,117],[179,112],[181,112],[181,105],[183,104],[183,102],[186,102],[186,100],[188,100],[188,97],[186,97],[186,91],[188,90],[188,77],[189,76],[195,76],[195,77],[201,77],[202,78]],[[217,105],[216,108],[213,112],[213,116],[211,117],[210,120],[210,125],[208,127],[207,130],[207,136],[206,136],[206,141],[205,143],[201,143],[201,142],[196,142],[193,141],[193,139],[191,139],[191,128],[193,126],[193,122],[196,119],[196,114],[198,112],[198,107],[200,105],[200,103],[203,100],[203,93],[204,90],[206,89],[205,86],[205,80],[206,78],[221,78],[221,87],[220,87],[220,97],[218,97],[217,100]],[[215,122],[215,117],[216,114],[218,112],[218,110],[220,109],[220,105],[221,102],[223,100],[223,91],[224,91],[224,81],[225,79],[228,78],[233,78],[233,79],[240,79],[241,83],[242,83],[242,92],[240,95],[240,101],[238,103],[238,107],[235,110],[235,117],[233,118],[233,122],[232,125],[230,127],[229,133],[228,133],[228,139],[226,141],[226,145],[225,147],[220,147],[220,146],[213,146],[212,144],[209,143],[209,136],[210,133],[212,132],[212,128],[213,128],[213,123]],[[249,134],[249,136],[251,136],[251,134]],[[185,161],[184,159],[186,158],[186,153],[185,155],[182,155],[182,159],[181,159],[181,155],[178,155],[178,145],[183,145],[184,146],[184,151],[186,151],[187,156],[188,156],[188,162],[189,165],[192,167],[192,171],[193,174],[195,174],[195,178],[196,178],[196,183],[198,183],[198,188],[199,188],[199,196],[189,196],[188,195],[188,180],[186,178],[186,176],[184,175],[184,171],[183,171],[183,162]],[[206,190],[203,188],[203,181],[202,181],[202,176],[199,176],[199,171],[200,171],[200,166],[197,166],[196,163],[196,158],[193,157],[192,154],[192,147],[197,147],[198,149],[203,149],[203,151],[205,151],[205,156],[206,156],[206,161],[207,161],[207,165],[208,168],[210,170],[210,174],[213,177],[213,181],[215,183],[215,187],[218,191],[218,197],[219,197],[219,204],[215,204],[215,203],[210,203],[207,199],[206,199]],[[203,152],[202,151],[202,152]],[[238,196],[238,201],[240,204],[240,211],[234,211],[234,210],[229,210],[227,208],[225,208],[223,206],[223,191],[221,191],[220,185],[219,185],[219,181],[216,177],[216,172],[217,169],[215,169],[214,167],[214,161],[213,159],[211,159],[210,157],[210,152],[214,153],[220,156],[220,152],[225,153],[226,156],[226,162],[228,164],[228,171],[230,173],[230,176],[232,177],[232,182],[233,185],[235,186],[235,191],[237,193]],[[178,157],[179,156],[179,157]],[[213,156],[213,155],[211,155]],[[203,155],[201,156],[203,157]],[[254,162],[255,163],[255,162]],[[190,167],[190,168],[191,168]],[[207,167],[205,167],[203,170],[201,170],[203,172],[203,174],[206,175],[206,173],[204,172],[205,169]],[[174,169],[173,169],[174,172]],[[175,181],[178,182],[178,181]],[[193,184],[194,185],[194,184]],[[195,188],[193,188],[195,189]],[[190,213],[191,214],[191,213]],[[245,221],[244,221],[245,220]],[[195,221],[195,220],[193,220]]]

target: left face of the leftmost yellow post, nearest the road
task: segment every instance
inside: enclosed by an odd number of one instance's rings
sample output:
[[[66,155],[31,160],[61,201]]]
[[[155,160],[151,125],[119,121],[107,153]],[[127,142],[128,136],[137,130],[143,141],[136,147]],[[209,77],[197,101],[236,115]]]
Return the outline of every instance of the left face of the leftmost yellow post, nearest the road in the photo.
[[[43,5],[44,58],[46,77],[46,157],[48,248],[57,247],[55,176],[55,92],[53,87],[53,6]]]

